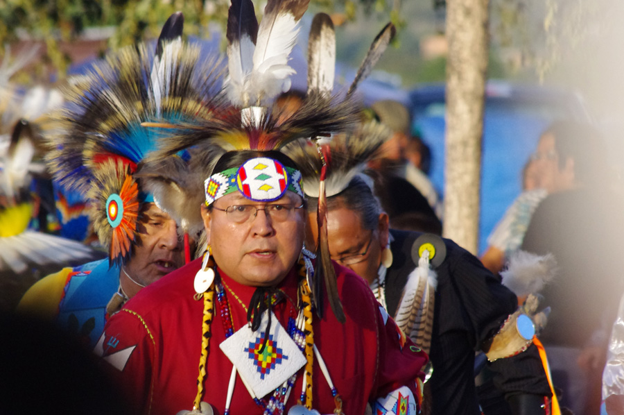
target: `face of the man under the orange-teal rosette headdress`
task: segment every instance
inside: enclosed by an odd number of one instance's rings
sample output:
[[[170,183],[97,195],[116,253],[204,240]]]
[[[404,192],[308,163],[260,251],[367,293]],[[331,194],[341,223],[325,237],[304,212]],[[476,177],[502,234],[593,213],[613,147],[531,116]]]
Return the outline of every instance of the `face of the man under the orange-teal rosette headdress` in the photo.
[[[155,203],[146,203],[125,271],[140,284],[150,285],[184,265],[183,248],[175,221]]]

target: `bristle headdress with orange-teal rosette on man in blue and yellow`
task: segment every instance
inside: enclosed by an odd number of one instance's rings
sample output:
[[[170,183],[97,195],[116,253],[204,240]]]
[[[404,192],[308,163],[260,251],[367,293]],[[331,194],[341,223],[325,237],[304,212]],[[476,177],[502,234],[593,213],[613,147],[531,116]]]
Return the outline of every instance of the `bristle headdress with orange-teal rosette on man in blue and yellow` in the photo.
[[[220,85],[220,64],[203,62],[183,43],[182,15],[169,18],[157,53],[144,44],[122,49],[71,79],[67,105],[58,115],[60,131],[50,137],[48,161],[55,178],[87,194],[91,217],[110,262],[130,255],[144,189],[134,174],[153,151],[162,130],[146,121],[184,123],[211,117],[207,96]],[[182,155],[183,156],[183,155]]]

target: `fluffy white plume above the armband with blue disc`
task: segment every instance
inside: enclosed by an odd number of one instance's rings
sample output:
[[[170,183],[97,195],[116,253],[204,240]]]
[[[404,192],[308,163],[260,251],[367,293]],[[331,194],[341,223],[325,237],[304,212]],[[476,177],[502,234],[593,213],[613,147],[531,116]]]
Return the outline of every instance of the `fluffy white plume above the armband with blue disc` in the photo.
[[[503,285],[519,297],[537,293],[557,274],[557,261],[553,254],[544,256],[517,251],[509,259],[507,269],[501,272]]]

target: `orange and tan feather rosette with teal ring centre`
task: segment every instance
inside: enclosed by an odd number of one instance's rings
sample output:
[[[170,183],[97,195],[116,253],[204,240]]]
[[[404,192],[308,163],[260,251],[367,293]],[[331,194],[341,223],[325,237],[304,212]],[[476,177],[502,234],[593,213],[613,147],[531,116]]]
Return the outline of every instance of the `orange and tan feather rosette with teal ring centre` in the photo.
[[[109,160],[94,171],[98,185],[87,195],[94,201],[92,218],[100,241],[109,249],[110,263],[130,257],[139,217],[139,185],[128,164]]]

